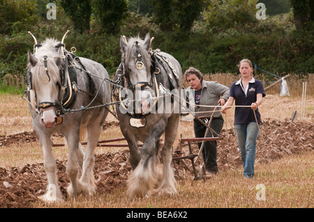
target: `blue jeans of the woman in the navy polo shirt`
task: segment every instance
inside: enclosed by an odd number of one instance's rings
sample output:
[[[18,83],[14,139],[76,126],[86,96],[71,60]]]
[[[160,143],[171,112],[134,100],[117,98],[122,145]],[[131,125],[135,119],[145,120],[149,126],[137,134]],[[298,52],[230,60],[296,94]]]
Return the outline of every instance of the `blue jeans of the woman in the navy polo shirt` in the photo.
[[[259,132],[257,123],[235,124],[234,129],[237,133],[240,157],[244,166],[244,177],[252,178],[254,175],[256,140]]]

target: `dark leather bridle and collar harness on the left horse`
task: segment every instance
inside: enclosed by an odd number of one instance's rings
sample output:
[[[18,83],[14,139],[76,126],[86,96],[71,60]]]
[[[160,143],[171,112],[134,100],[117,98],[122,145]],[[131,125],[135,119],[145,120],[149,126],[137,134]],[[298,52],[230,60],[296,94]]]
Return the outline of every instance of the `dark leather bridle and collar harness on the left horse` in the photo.
[[[56,50],[59,49],[63,44],[60,43],[56,46]],[[36,47],[40,47],[41,45],[36,45]],[[48,109],[50,107],[56,107],[56,116],[57,116],[57,123],[56,125],[60,125],[63,121],[63,118],[61,115],[64,114],[64,110],[70,109],[76,99],[77,96],[77,90],[80,90],[77,86],[77,76],[74,68],[80,69],[81,71],[87,72],[89,75],[89,91],[90,92],[84,92],[89,95],[94,94],[94,81],[91,78],[91,74],[86,70],[82,62],[80,61],[80,58],[77,57],[75,54],[69,51],[65,51],[65,65],[63,70],[60,69],[60,77],[61,77],[61,87],[59,90],[58,95],[58,101],[56,102],[40,102],[37,103],[37,97],[36,92],[34,92],[32,86],[31,86],[31,68],[27,69],[26,74],[26,82],[27,82],[27,90],[24,91],[22,98],[25,99],[24,95],[26,94],[27,99],[29,100],[29,103],[31,104],[31,107],[33,111],[36,111],[38,114],[42,114],[40,109]],[[82,68],[79,68],[75,65],[75,61],[77,63],[80,63]],[[45,74],[47,75],[47,81],[50,81],[50,75],[48,72],[47,67],[47,56],[43,56],[43,62],[45,67]],[[81,90],[82,91],[82,90]]]

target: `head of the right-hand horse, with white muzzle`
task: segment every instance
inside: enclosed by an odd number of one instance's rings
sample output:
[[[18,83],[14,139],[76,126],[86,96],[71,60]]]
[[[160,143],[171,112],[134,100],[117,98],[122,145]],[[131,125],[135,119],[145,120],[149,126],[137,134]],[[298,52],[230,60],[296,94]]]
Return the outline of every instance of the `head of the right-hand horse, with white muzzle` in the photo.
[[[136,113],[147,113],[150,110],[152,97],[154,97],[151,90],[154,79],[151,76],[150,44],[151,37],[149,33],[147,33],[144,40],[137,37],[130,38],[127,41],[124,36],[121,36],[120,39],[124,74],[130,81],[128,85],[130,90],[135,93],[135,100],[140,100],[137,102],[140,102],[142,107],[136,110]]]

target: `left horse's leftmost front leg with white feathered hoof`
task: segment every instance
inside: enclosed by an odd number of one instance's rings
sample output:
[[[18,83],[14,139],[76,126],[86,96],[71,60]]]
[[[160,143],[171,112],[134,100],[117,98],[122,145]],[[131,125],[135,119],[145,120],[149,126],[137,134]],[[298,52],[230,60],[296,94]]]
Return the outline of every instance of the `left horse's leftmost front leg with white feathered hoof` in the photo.
[[[62,194],[58,185],[57,164],[52,155],[50,135],[41,131],[38,132],[40,132],[38,138],[43,148],[44,166],[48,180],[47,192],[43,196],[40,196],[39,199],[45,202],[60,201],[62,200]]]

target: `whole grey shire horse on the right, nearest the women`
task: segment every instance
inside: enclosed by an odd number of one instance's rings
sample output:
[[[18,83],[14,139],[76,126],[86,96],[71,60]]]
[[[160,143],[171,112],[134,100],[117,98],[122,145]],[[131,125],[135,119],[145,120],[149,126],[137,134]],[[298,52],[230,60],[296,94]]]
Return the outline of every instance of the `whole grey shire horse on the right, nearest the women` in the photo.
[[[177,193],[172,172],[173,145],[178,139],[179,89],[182,71],[179,62],[163,51],[151,50],[149,33],[126,40],[121,36],[122,62],[114,90],[121,132],[130,149],[133,168],[128,178],[129,198],[158,193]],[[165,135],[158,158],[160,137]],[[138,142],[142,142],[139,148]],[[163,167],[162,167],[163,166]]]

